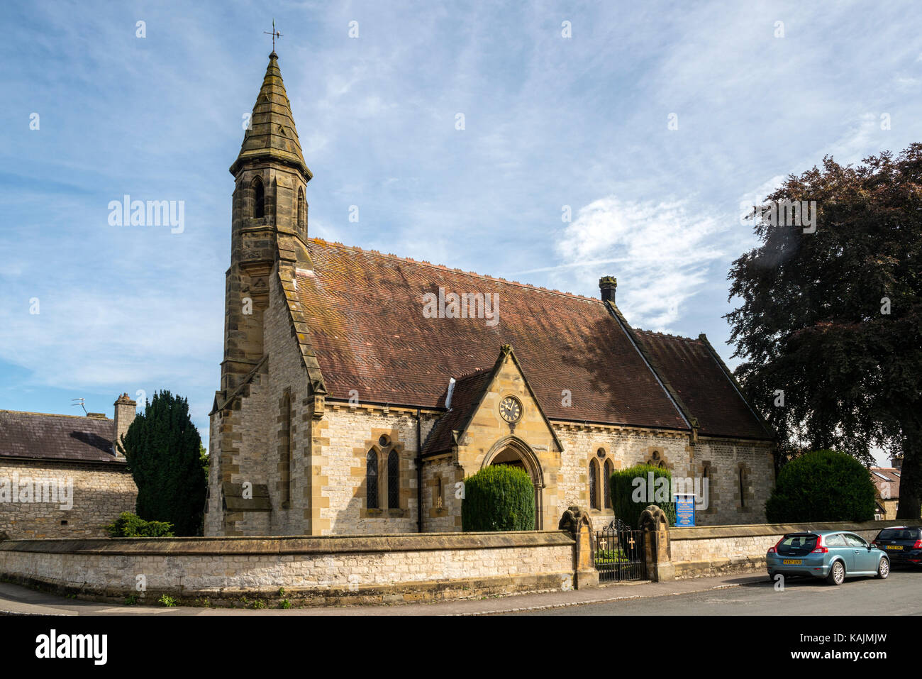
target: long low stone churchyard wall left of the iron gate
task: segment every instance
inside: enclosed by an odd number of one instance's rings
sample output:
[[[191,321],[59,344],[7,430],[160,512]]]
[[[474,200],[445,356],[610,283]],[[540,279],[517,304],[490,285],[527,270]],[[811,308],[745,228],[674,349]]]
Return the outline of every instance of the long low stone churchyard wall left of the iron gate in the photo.
[[[573,587],[573,538],[560,531],[325,538],[164,538],[0,542],[0,575],[156,602],[278,598],[419,601]],[[427,594],[428,593],[428,594]]]

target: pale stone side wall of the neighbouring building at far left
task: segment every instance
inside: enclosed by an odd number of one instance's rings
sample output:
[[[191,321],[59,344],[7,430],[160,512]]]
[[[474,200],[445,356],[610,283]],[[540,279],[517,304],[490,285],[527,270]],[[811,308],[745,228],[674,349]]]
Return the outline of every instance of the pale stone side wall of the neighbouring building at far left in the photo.
[[[103,466],[0,460],[0,488],[12,491],[17,479],[18,502],[11,501],[12,494],[6,497],[6,492],[0,491],[0,532],[6,532],[13,539],[102,537],[107,535],[103,527],[119,514],[135,511],[137,487],[123,462]],[[72,507],[62,508],[70,503],[62,503],[65,498],[60,496],[57,502],[22,501],[23,484],[27,479],[32,480],[33,491],[35,480],[51,480],[65,486],[69,482]],[[41,493],[42,500],[53,497],[45,495],[44,488]],[[33,492],[32,499],[36,497]]]

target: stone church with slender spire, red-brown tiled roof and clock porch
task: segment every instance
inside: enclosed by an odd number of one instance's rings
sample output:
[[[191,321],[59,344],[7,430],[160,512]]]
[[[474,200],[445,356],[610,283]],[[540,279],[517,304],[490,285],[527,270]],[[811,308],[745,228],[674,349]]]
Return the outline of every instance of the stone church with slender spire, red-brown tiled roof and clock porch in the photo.
[[[698,525],[763,522],[774,435],[708,340],[584,297],[312,238],[269,55],[234,177],[205,534],[461,530],[464,480],[524,469],[537,530],[614,518],[609,475],[702,480]]]

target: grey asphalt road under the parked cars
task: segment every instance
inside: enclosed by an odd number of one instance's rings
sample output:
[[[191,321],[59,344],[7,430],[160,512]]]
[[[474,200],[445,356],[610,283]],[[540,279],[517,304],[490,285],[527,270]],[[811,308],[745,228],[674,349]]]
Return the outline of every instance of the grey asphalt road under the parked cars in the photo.
[[[846,579],[839,587],[791,578],[775,590],[768,578],[675,596],[586,603],[516,615],[922,615],[922,569],[894,570],[885,580]]]

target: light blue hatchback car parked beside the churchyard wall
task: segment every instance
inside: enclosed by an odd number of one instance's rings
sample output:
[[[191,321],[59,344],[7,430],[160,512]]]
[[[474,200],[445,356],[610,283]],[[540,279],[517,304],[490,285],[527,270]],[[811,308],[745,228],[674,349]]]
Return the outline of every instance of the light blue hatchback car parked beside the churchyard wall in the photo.
[[[853,576],[890,575],[890,557],[846,530],[788,533],[765,554],[768,577],[813,576],[841,585]]]

